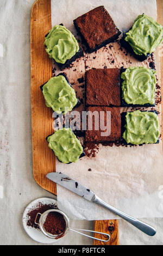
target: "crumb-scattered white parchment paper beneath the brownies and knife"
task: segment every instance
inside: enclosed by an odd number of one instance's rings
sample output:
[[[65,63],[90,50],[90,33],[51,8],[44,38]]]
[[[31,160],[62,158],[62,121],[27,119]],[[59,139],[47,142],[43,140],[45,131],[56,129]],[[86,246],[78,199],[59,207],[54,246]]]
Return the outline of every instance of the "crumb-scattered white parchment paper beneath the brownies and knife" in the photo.
[[[64,23],[78,38],[73,20],[87,11],[104,5],[121,32],[127,31],[135,18],[142,13],[156,20],[156,1],[154,0],[52,0],[52,26]],[[79,39],[79,38],[78,38]],[[79,39],[80,40],[80,39]],[[66,69],[68,79],[73,84],[78,97],[83,97],[84,89],[78,78],[85,78],[85,71],[90,68],[120,68],[124,66],[147,66],[154,60],[160,86],[160,71],[156,50],[152,59],[137,62],[130,54],[126,54],[118,42],[101,48],[97,53],[85,54],[78,62]],[[53,73],[60,70],[54,65]],[[157,88],[158,99],[160,88]],[[84,104],[79,107],[84,110]],[[160,111],[159,100],[154,109]],[[129,111],[129,108],[122,111]],[[103,147],[100,145],[96,157],[87,156],[77,163],[64,164],[57,160],[57,172],[69,175],[94,191],[106,203],[133,217],[162,217],[163,200],[163,160],[162,143],[134,147]],[[88,169],[91,169],[89,171]],[[72,218],[86,220],[104,220],[117,218],[101,206],[87,202],[76,194],[57,186],[58,205]]]

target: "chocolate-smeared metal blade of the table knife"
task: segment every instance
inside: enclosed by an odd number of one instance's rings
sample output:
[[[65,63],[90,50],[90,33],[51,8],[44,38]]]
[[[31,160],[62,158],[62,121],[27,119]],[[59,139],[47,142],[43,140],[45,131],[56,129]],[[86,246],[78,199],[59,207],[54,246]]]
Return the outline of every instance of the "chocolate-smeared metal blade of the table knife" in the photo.
[[[93,202],[93,200],[95,199],[95,193],[93,193],[91,190],[89,190],[89,188],[83,186],[82,184],[80,184],[76,180],[73,180],[65,174],[48,173],[46,176],[49,180],[52,180],[55,183],[61,185],[62,187],[67,188],[67,190],[78,194],[80,197],[83,197],[86,200]]]

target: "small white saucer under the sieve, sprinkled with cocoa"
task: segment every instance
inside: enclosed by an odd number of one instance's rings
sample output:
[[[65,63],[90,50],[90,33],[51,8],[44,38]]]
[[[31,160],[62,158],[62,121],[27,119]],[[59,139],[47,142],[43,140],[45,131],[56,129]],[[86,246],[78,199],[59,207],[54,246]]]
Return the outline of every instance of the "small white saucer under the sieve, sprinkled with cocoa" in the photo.
[[[57,240],[51,239],[51,238],[43,235],[43,233],[40,231],[40,229],[32,228],[27,225],[28,212],[30,211],[30,209],[34,209],[35,206],[37,206],[39,203],[57,205],[57,200],[55,200],[53,198],[49,198],[49,197],[41,197],[41,198],[35,199],[30,204],[28,204],[26,209],[23,212],[23,218],[22,218],[23,227],[24,227],[25,231],[27,232],[27,234],[30,236],[30,238],[32,238],[36,242],[55,243]]]

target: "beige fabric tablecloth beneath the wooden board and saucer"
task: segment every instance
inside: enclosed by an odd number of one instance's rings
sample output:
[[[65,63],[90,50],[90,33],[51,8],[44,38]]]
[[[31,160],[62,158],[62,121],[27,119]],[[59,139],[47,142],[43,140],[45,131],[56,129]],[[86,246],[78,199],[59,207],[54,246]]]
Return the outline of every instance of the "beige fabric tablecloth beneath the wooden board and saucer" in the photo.
[[[82,0],[79,0],[82,1]],[[39,245],[22,227],[22,214],[35,198],[52,197],[39,187],[32,172],[30,123],[30,11],[34,0],[0,0],[0,244]],[[163,245],[163,218],[143,219],[157,229],[154,237],[119,221],[121,245]],[[71,220],[92,228],[92,222]],[[71,233],[56,245],[92,245]]]

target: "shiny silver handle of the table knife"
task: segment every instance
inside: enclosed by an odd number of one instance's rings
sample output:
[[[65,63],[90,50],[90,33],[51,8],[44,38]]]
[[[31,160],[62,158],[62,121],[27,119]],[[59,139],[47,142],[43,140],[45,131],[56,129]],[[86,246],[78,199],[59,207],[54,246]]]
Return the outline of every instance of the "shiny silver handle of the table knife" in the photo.
[[[134,225],[136,228],[140,229],[143,233],[153,236],[156,233],[156,230],[151,227],[150,225],[137,220],[136,218],[133,218],[127,214],[124,214],[122,211],[117,210],[116,208],[112,207],[109,204],[106,204],[101,198],[97,197],[95,195],[95,198],[92,200],[93,203],[99,204],[104,206],[104,208],[112,211],[114,214],[120,216],[121,218],[123,218],[124,220],[126,220],[127,222],[129,222],[130,224]]]

